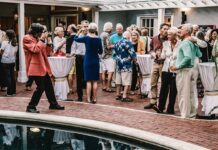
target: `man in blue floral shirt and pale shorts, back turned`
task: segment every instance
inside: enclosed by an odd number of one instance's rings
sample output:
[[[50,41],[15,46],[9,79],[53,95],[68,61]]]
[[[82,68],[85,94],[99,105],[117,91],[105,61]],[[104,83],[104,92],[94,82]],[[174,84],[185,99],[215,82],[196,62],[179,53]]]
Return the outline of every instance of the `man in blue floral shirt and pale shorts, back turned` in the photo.
[[[122,102],[131,102],[132,99],[127,97],[127,91],[132,80],[132,62],[136,61],[136,53],[130,42],[131,34],[126,31],[123,34],[123,39],[117,42],[114,46],[113,58],[116,60],[116,85],[117,97],[116,100]],[[121,85],[124,86],[123,95],[120,95]]]

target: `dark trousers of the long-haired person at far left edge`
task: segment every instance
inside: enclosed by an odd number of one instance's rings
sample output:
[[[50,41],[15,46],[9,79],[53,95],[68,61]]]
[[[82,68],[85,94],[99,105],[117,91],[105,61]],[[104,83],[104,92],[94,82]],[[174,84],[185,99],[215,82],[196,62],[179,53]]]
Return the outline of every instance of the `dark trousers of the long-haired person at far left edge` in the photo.
[[[14,74],[15,63],[5,64],[2,63],[3,70],[5,72],[4,81],[6,81],[7,94],[16,94],[16,81]]]

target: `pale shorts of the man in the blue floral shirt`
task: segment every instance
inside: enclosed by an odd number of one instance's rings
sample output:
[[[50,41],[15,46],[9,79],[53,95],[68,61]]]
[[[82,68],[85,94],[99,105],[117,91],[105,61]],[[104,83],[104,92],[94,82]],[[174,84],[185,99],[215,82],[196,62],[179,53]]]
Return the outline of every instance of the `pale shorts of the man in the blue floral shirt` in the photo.
[[[116,84],[127,86],[131,85],[132,72],[116,72]]]

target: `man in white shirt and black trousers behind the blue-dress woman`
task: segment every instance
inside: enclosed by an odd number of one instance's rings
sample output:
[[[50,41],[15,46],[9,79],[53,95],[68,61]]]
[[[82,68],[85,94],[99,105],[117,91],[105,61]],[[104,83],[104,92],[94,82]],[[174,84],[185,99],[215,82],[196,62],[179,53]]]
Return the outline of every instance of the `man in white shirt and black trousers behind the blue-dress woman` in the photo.
[[[88,26],[89,22],[87,20],[83,20],[81,22],[81,33],[79,37],[86,36],[88,34]],[[83,100],[83,88],[86,86],[84,81],[84,69],[83,69],[83,61],[84,55],[86,52],[86,47],[84,43],[73,42],[71,47],[71,55],[76,56],[76,87],[77,87],[77,96],[78,99],[76,101]]]

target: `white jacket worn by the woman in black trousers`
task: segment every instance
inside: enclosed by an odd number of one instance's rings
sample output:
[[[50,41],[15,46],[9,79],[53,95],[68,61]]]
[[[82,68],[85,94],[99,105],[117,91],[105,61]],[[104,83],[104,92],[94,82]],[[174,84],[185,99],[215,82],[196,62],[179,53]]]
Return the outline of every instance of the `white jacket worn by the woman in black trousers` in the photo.
[[[163,43],[163,49],[161,53],[161,58],[165,59],[162,71],[168,72],[171,66],[176,64],[177,52],[181,41],[177,41],[174,48],[171,46],[170,41],[165,41]]]

